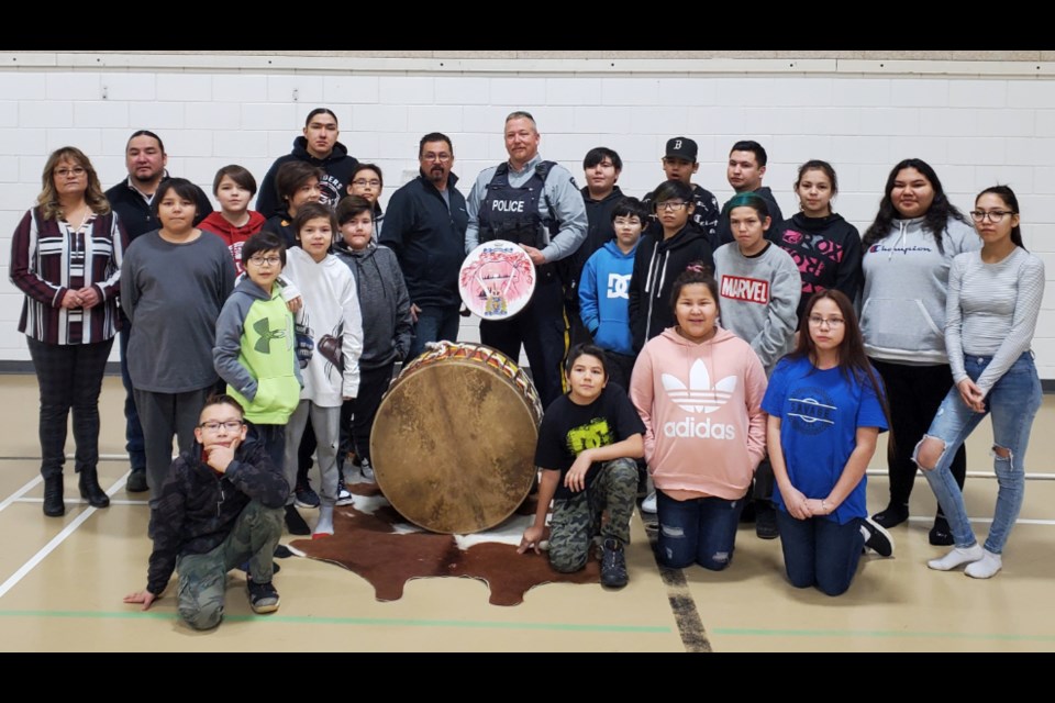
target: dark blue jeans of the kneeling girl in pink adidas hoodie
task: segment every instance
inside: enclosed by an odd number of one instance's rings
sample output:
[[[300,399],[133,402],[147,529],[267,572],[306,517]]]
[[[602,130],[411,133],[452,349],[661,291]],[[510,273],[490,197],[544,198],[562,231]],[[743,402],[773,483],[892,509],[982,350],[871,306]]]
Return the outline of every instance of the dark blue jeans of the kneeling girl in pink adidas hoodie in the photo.
[[[745,499],[695,498],[676,501],[656,491],[659,562],[671,569],[698,563],[721,571],[733,560],[736,527]]]

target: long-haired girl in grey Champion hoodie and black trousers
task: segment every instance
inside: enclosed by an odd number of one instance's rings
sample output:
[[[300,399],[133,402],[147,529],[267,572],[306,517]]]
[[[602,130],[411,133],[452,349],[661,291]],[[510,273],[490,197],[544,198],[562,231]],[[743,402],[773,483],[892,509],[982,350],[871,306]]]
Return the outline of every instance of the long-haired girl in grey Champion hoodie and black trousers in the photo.
[[[887,389],[897,438],[887,457],[890,503],[875,515],[877,523],[889,528],[909,517],[917,471],[912,447],[953,387],[942,333],[948,269],[957,254],[978,248],[978,237],[948,201],[934,169],[926,161],[908,158],[891,169],[879,213],[863,244],[860,328],[865,353]],[[963,486],[967,456],[962,447],[951,468]],[[953,544],[941,506],[930,542]]]

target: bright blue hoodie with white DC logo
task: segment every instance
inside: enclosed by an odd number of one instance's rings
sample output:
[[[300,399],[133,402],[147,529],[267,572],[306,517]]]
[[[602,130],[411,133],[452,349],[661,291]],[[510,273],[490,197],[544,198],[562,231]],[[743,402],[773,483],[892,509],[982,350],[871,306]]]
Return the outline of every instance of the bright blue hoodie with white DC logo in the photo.
[[[641,239],[637,241],[638,244]],[[623,254],[611,239],[593,253],[582,268],[579,281],[579,316],[602,349],[632,356],[630,334],[630,278],[634,272],[634,254]]]

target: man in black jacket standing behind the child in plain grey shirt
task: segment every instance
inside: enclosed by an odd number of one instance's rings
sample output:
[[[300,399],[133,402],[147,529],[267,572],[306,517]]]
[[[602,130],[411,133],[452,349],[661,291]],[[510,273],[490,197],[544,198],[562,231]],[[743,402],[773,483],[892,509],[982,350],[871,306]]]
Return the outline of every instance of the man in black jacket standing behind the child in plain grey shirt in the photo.
[[[162,181],[169,178],[165,167],[168,165],[168,154],[162,137],[149,130],[140,130],[129,137],[124,147],[124,161],[129,169],[129,178],[116,183],[107,191],[110,207],[118,213],[131,244],[141,234],[159,230],[162,223],[154,215],[152,203]],[[195,186],[197,215],[195,224],[212,213],[212,203],[209,196]],[[140,414],[135,410],[135,400],[132,397],[132,379],[129,376],[129,336],[132,334],[132,322],[121,312],[121,382],[124,383],[124,419],[125,419],[125,449],[132,464],[132,473],[129,475],[126,488],[130,492],[138,493],[147,489],[146,486],[146,454],[143,444],[143,426],[140,424]]]

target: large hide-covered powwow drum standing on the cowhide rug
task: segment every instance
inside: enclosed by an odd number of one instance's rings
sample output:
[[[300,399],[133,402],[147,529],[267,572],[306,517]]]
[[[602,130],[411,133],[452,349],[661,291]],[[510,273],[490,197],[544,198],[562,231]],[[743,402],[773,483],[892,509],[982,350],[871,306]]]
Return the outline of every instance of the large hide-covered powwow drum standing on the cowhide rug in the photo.
[[[506,355],[476,344],[422,354],[392,381],[377,412],[377,483],[410,522],[467,534],[498,525],[535,477],[542,403]]]

